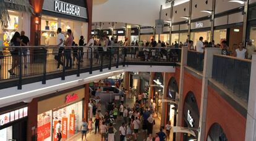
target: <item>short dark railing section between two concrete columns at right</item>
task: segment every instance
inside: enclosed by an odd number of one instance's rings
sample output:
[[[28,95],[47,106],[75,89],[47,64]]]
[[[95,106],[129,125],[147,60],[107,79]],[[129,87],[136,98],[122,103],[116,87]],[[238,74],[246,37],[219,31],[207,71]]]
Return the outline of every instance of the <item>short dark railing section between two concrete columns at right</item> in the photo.
[[[203,59],[204,54],[202,52],[196,52],[189,50],[187,52],[187,66],[194,68],[197,71],[203,72]]]

